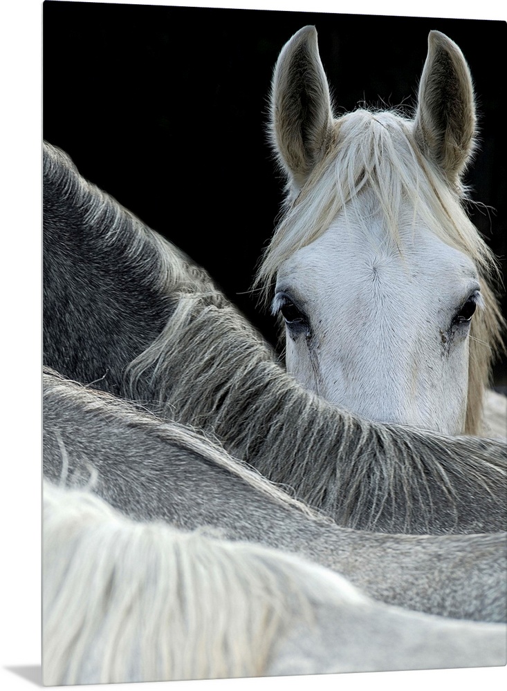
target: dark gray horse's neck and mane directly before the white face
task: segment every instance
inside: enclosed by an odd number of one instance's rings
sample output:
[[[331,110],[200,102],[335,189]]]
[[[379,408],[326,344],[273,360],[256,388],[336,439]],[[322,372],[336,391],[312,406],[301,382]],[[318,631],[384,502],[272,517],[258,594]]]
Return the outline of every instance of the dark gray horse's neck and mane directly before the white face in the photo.
[[[504,529],[504,444],[371,424],[302,390],[205,272],[46,158],[48,366],[201,428],[342,525]]]

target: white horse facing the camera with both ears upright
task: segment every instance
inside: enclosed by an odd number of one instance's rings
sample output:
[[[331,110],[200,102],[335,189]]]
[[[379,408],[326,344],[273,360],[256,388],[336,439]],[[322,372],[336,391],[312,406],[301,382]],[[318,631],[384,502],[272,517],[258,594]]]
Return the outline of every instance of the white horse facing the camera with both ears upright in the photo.
[[[414,119],[335,119],[306,26],[277,61],[271,133],[286,207],[257,281],[276,276],[288,371],[367,419],[490,433],[483,402],[503,320],[495,259],[463,209],[476,116],[461,50],[430,32]],[[506,400],[488,399],[500,435]]]

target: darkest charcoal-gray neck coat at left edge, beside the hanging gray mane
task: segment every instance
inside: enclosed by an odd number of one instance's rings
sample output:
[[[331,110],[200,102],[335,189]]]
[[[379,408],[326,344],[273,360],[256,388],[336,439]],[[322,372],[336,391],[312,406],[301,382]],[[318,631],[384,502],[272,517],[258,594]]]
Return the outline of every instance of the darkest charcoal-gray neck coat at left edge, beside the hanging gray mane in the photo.
[[[142,267],[129,261],[129,216],[105,196],[83,193],[77,173],[47,152],[44,167],[44,363],[118,394],[125,367],[171,312],[167,296],[142,281],[156,267],[156,252],[149,256],[146,245]]]

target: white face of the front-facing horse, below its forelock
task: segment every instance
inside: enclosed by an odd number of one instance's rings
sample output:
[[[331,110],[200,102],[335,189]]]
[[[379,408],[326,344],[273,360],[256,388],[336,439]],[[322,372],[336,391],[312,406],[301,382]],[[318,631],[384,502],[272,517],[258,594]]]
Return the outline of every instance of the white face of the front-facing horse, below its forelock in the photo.
[[[367,224],[353,209],[338,214],[282,263],[273,307],[285,320],[287,370],[303,386],[367,419],[457,434],[479,279],[411,214],[400,214],[401,246],[380,214]]]

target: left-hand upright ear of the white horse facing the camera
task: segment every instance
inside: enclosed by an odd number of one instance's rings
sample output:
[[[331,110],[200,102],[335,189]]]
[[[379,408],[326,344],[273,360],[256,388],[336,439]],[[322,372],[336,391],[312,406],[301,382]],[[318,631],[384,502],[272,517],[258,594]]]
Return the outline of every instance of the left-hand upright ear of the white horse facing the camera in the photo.
[[[282,48],[271,89],[273,146],[297,189],[322,158],[332,122],[317,31],[304,26]]]

